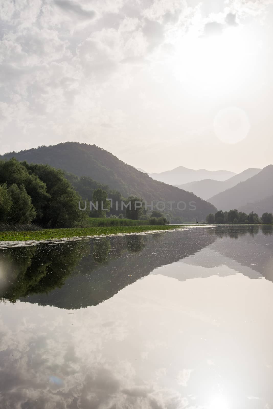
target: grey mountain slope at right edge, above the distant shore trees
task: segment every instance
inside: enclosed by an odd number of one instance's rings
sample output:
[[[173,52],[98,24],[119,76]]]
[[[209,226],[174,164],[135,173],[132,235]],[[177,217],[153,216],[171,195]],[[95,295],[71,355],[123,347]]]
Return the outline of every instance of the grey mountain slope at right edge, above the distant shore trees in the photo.
[[[218,193],[209,199],[217,209],[239,209],[248,203],[273,196],[273,165],[266,166],[257,175]]]

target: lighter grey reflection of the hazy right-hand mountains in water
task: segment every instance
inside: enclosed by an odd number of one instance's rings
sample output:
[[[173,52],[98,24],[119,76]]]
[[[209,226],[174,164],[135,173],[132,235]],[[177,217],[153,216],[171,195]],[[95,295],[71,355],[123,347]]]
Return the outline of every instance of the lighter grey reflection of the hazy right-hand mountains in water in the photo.
[[[184,258],[170,270],[158,269],[153,274],[185,281],[214,274],[224,277],[235,271],[251,279],[264,276],[273,281],[273,226],[217,227],[208,233],[218,237],[218,240],[194,257]]]

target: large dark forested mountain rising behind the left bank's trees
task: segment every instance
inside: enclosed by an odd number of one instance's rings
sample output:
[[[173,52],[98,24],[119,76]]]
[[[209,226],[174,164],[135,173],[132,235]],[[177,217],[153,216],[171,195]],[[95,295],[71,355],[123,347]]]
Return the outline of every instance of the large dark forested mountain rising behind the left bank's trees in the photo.
[[[11,157],[29,163],[49,164],[77,176],[89,176],[96,182],[116,189],[124,197],[137,196],[146,200],[148,204],[152,201],[173,201],[176,203],[183,201],[186,203],[186,209],[184,211],[178,210],[175,204],[173,205],[173,212],[177,216],[183,216],[190,220],[195,217],[201,220],[202,215],[206,216],[208,213],[215,213],[216,211],[213,205],[198,198],[193,193],[157,182],[148,174],[125,164],[112,153],[96,145],[65,142],[54,146],[40,146],[18,153],[7,153],[0,156],[0,160]],[[92,198],[88,199],[91,200]],[[195,211],[190,207],[190,202],[196,202]],[[183,204],[180,205],[180,208],[183,209]]]

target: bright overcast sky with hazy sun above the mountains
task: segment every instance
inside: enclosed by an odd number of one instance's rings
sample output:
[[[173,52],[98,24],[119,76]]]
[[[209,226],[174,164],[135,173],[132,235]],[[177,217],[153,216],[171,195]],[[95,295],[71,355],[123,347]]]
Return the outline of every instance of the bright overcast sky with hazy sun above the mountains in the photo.
[[[0,0],[0,153],[148,172],[273,163],[273,0]]]

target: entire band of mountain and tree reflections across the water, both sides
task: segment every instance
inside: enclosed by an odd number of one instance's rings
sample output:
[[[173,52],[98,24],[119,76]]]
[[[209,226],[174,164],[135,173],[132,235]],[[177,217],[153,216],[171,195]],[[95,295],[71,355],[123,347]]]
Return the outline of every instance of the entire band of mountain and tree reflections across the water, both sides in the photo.
[[[197,228],[2,249],[0,297],[82,308],[101,303],[150,272],[184,281],[237,271],[273,281],[272,230]],[[168,264],[172,266],[162,267]]]

